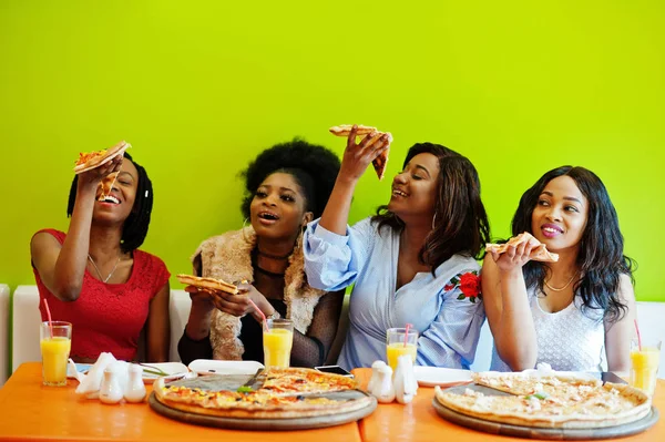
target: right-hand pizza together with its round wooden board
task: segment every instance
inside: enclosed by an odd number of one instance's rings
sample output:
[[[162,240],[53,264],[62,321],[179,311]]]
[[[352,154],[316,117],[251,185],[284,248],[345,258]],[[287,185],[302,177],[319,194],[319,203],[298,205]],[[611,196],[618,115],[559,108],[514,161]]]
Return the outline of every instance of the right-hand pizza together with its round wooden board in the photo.
[[[642,390],[592,376],[480,372],[472,380],[468,386],[436,387],[437,413],[475,430],[545,439],[634,434],[658,419]]]

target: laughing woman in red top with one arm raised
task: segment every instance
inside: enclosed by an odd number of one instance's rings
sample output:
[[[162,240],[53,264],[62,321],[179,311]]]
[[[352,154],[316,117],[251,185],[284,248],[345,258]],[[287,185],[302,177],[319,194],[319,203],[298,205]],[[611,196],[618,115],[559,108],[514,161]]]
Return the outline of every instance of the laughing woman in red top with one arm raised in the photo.
[[[32,237],[40,298],[54,320],[72,322],[76,362],[95,361],[103,351],[134,360],[144,328],[145,359],[168,359],[170,274],[160,258],[137,250],[152,204],[145,169],[129,154],[120,155],[74,177],[66,234],[45,229]],[[40,310],[45,320],[43,302]]]

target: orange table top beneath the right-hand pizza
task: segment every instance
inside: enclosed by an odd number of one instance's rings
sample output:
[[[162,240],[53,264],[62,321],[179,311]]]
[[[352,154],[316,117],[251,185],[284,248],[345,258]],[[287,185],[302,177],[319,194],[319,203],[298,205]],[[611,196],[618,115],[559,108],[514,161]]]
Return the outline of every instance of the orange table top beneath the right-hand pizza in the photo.
[[[354,370],[356,379],[366,387],[371,378],[371,369]],[[456,425],[440,418],[432,407],[434,389],[420,387],[413,402],[400,405],[397,402],[379,404],[377,410],[359,422],[364,442],[375,441],[417,441],[417,442],[509,442],[524,439],[494,435]],[[661,412],[658,422],[641,434],[622,438],[621,441],[665,441],[665,381],[658,380],[654,405]],[[616,439],[614,439],[616,441]]]

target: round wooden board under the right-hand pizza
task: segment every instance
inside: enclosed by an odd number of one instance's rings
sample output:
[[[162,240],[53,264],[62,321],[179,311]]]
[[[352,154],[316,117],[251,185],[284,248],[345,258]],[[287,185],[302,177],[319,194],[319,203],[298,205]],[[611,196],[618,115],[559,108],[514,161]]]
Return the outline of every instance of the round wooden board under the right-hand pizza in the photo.
[[[493,391],[493,394],[509,394],[497,390],[488,389],[482,386],[459,386],[452,387],[451,391],[456,389],[459,393],[463,393],[464,389],[472,388],[474,390],[487,389]],[[483,393],[487,393],[483,391]],[[616,426],[604,426],[597,429],[544,429],[536,426],[514,425],[510,423],[501,423],[487,421],[484,419],[470,417],[462,414],[456,410],[451,410],[446,405],[439,403],[437,398],[432,399],[432,405],[441,418],[456,423],[461,426],[467,426],[472,430],[483,431],[485,433],[510,435],[515,438],[525,439],[544,439],[544,440],[557,440],[557,441],[581,441],[581,440],[593,440],[593,439],[612,439],[623,438],[632,434],[637,434],[648,430],[658,421],[658,410],[652,407],[651,412],[644,418],[635,422],[624,423]]]

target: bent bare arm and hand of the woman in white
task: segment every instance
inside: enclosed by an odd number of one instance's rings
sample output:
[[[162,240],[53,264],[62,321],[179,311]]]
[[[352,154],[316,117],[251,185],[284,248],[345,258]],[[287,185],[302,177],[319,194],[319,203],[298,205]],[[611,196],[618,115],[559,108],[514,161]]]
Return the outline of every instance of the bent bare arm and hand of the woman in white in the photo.
[[[522,267],[539,246],[535,238],[509,246],[502,255],[487,255],[482,267],[482,296],[494,346],[513,371],[533,368],[538,342]]]

